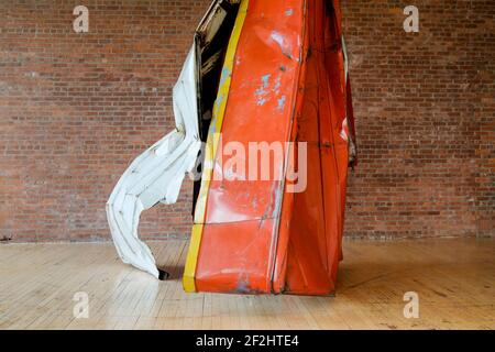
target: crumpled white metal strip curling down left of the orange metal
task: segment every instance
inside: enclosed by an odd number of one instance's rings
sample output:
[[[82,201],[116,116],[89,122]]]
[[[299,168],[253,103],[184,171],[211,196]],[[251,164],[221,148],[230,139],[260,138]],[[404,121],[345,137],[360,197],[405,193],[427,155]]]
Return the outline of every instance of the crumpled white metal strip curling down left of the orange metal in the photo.
[[[173,91],[176,130],[134,160],[107,202],[108,222],[119,256],[155,277],[158,277],[155,258],[139,239],[140,216],[157,202],[176,202],[186,173],[196,164],[201,146],[197,72],[194,45]]]

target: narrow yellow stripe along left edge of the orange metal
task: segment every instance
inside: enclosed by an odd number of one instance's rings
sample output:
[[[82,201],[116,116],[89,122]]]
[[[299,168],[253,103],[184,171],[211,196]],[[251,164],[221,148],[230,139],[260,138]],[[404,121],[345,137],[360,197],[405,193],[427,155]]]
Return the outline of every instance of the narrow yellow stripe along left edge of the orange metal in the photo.
[[[215,157],[217,155],[220,132],[226,113],[227,100],[229,97],[230,84],[232,79],[232,70],[234,65],[235,52],[238,50],[239,38],[244,25],[248,13],[249,0],[242,0],[235,19],[235,24],[230,36],[227,47],[226,59],[223,63],[222,75],[220,78],[220,87],[213,107],[213,117],[208,133],[206,145],[205,163],[201,178],[201,188],[195,210],[195,224],[193,226],[189,250],[187,253],[186,266],[184,270],[183,286],[185,292],[196,292],[196,266],[198,264],[199,246],[201,244],[202,230],[205,227],[206,205],[208,199],[208,190],[210,180],[213,175]]]

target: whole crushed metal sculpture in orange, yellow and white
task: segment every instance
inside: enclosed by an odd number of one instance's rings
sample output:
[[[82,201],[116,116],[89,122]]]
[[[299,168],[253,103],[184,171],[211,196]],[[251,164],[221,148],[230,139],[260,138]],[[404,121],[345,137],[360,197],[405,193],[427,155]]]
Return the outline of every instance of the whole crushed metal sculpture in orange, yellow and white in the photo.
[[[333,294],[355,163],[339,0],[213,1],[173,98],[176,130],[107,204],[122,261],[163,276],[138,237],[140,215],[175,202],[186,173],[199,172],[186,292]],[[254,170],[253,153],[265,157]]]

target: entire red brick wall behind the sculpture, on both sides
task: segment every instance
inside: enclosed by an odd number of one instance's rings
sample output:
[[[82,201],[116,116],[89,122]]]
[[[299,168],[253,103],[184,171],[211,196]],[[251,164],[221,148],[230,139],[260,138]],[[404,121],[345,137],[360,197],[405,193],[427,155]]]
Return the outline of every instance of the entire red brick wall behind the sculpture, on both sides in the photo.
[[[75,6],[90,11],[76,34]],[[106,200],[169,131],[170,92],[209,0],[0,1],[0,239],[108,239]],[[494,231],[493,1],[343,1],[360,165],[346,234]],[[146,239],[186,235],[179,202],[143,215]]]

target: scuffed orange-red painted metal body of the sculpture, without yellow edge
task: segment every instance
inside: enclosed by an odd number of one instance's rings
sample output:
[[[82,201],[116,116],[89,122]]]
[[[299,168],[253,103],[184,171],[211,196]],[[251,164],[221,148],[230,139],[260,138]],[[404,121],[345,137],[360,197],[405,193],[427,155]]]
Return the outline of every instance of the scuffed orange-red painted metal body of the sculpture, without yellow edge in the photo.
[[[250,180],[235,169],[229,174],[239,179],[224,179],[218,152],[195,289],[332,294],[355,134],[338,1],[250,0],[237,45],[228,96],[219,97],[227,99],[220,144],[305,142],[307,154],[287,146],[294,154],[270,174],[307,157],[307,187],[290,193],[279,179]]]

